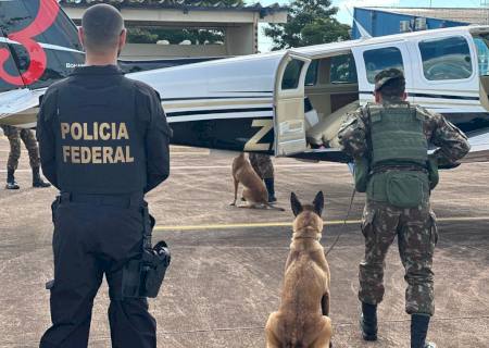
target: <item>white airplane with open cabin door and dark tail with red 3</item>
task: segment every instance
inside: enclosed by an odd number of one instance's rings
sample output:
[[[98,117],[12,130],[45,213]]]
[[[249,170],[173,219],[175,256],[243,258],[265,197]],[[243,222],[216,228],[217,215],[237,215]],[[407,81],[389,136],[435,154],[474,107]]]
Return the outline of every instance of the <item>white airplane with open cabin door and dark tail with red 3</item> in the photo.
[[[33,127],[46,88],[83,64],[84,53],[54,0],[0,1],[0,124]],[[162,96],[173,144],[348,162],[340,124],[373,100],[378,72],[398,67],[409,101],[467,134],[465,161],[489,159],[489,26],[196,61],[121,62]]]

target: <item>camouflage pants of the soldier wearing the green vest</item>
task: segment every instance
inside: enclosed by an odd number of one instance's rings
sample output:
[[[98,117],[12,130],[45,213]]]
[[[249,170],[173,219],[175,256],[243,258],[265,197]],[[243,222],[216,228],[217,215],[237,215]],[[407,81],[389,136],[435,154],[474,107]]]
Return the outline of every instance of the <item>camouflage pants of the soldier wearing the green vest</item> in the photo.
[[[404,265],[405,311],[409,314],[432,315],[434,273],[432,254],[438,239],[436,216],[429,208],[401,209],[368,202],[362,222],[365,237],[365,259],[360,263],[359,299],[377,304],[384,297],[386,254],[398,236],[399,253]]]

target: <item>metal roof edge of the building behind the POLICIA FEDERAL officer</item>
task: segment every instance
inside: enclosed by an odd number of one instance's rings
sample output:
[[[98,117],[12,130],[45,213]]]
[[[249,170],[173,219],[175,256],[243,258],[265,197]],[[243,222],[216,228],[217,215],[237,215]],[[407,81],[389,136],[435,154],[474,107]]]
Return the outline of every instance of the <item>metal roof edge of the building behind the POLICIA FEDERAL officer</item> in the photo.
[[[188,10],[237,10],[271,14],[274,12],[288,11],[288,7],[274,3],[263,7],[260,2],[253,4],[229,4],[228,1],[211,2],[209,0],[60,0],[63,7],[88,8],[96,3],[109,3],[117,9],[145,8],[145,9],[188,9]]]

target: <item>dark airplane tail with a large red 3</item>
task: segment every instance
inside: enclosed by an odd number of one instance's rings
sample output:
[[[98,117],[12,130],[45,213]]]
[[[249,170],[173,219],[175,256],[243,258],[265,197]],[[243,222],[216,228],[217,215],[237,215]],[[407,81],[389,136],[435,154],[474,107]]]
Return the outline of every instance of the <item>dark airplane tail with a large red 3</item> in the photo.
[[[0,13],[0,92],[47,87],[84,63],[76,26],[57,0],[2,0]]]

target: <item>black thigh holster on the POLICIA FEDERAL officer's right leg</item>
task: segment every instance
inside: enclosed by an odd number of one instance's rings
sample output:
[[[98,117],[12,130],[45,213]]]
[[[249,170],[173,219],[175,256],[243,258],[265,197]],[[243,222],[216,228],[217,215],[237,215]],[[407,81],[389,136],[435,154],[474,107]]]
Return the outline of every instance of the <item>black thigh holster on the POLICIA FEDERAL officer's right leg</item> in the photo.
[[[154,247],[151,233],[155,224],[149,214],[148,207],[142,208],[142,254],[140,259],[129,260],[123,269],[123,298],[154,298],[163,284],[171,254],[165,241],[159,241]]]

